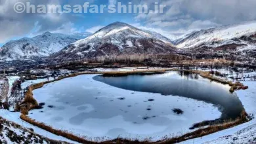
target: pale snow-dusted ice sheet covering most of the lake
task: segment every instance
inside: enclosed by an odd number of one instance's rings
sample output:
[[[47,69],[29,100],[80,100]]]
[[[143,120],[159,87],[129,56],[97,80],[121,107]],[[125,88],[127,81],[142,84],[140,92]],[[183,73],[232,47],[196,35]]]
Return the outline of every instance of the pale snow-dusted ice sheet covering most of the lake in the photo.
[[[197,122],[221,117],[211,103],[125,90],[95,81],[95,76],[79,75],[34,90],[34,98],[45,106],[30,111],[29,116],[88,139],[150,137],[152,140],[185,134]],[[184,113],[177,115],[173,109]]]

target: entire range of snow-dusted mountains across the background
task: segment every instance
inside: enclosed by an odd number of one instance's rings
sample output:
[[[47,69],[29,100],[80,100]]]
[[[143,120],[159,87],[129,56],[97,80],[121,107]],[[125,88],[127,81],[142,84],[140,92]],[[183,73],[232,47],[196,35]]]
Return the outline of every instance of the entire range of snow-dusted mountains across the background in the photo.
[[[171,41],[156,31],[139,29],[123,22],[114,22],[91,35],[88,33],[64,35],[47,31],[33,38],[24,37],[9,41],[0,48],[0,61],[36,60],[37,57],[48,56],[51,60],[54,58],[73,60],[121,54],[175,54],[177,51],[179,51],[178,54],[186,56],[205,53],[202,58],[211,58],[207,56],[209,52],[211,55],[216,55],[220,50],[232,51],[237,53],[236,55],[254,56],[255,33],[256,21],[251,21],[202,29],[186,35],[184,39]],[[53,35],[55,35],[54,41],[49,39]],[[58,43],[58,41],[65,42]],[[21,52],[18,52],[19,50]]]

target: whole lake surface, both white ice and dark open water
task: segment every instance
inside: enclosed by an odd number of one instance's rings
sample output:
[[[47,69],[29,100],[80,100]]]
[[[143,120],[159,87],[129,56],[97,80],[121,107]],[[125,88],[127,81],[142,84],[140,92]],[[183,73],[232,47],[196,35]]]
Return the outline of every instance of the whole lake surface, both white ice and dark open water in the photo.
[[[34,98],[45,106],[30,111],[29,116],[87,139],[158,140],[185,134],[197,122],[221,117],[216,105],[223,104],[225,117],[235,117],[240,109],[230,107],[242,108],[242,103],[228,89],[178,72],[123,77],[80,75],[34,90]],[[173,109],[184,113],[178,115]]]

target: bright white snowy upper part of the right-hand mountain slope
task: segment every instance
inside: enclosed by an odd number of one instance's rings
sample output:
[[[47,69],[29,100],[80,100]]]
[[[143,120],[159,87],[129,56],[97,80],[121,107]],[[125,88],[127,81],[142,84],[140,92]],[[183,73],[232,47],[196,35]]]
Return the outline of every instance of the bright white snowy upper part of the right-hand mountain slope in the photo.
[[[253,41],[244,39],[253,38],[256,33],[256,21],[244,24],[217,27],[194,32],[177,43],[177,48],[198,48],[202,46],[217,48],[223,45],[251,45]],[[244,38],[243,38],[244,37]]]

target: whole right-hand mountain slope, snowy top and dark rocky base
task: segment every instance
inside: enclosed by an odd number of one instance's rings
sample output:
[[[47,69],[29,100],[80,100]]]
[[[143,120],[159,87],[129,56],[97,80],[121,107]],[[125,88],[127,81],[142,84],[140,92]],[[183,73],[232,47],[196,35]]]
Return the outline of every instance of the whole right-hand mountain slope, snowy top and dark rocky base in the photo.
[[[256,56],[256,22],[194,32],[177,43],[183,54],[199,58],[253,60]]]

